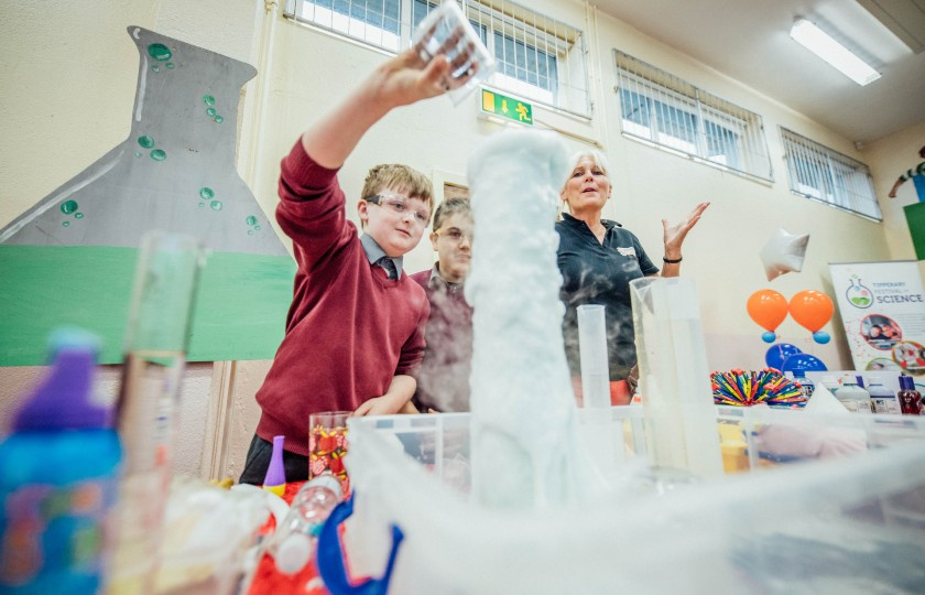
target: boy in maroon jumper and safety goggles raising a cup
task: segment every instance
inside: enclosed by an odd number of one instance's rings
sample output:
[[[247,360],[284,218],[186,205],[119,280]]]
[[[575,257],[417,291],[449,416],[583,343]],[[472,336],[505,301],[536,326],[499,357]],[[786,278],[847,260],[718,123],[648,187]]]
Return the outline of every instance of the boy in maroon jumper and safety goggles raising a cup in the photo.
[[[460,64],[443,55],[425,64],[416,48],[399,54],[283,159],[276,220],[293,240],[298,269],[285,336],[257,392],[262,414],[241,483],[263,482],[280,434],[286,478],[307,479],[313,412],[382,415],[410,407],[429,309],[402,271],[402,256],[427,226],[431,183],[403,165],[373,167],[357,204],[364,230],[357,237],[336,174],[373,123],[392,108],[445,93],[450,68]]]

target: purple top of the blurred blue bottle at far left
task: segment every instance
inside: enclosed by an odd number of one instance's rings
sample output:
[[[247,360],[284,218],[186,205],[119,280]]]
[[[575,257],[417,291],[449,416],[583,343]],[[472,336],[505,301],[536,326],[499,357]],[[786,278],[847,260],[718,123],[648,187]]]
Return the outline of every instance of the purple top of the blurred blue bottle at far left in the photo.
[[[14,431],[111,428],[111,408],[90,402],[99,339],[61,329],[51,338],[52,370],[17,413]]]

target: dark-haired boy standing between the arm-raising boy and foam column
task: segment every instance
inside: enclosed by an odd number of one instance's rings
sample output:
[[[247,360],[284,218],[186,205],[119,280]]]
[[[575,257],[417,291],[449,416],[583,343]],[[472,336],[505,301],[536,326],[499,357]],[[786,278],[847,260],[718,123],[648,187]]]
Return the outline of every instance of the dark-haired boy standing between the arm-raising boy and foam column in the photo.
[[[421,411],[469,411],[472,368],[472,307],[463,295],[472,258],[472,213],[466,198],[437,207],[431,245],[437,252],[432,269],[411,275],[431,302],[427,347],[416,375],[414,405]]]

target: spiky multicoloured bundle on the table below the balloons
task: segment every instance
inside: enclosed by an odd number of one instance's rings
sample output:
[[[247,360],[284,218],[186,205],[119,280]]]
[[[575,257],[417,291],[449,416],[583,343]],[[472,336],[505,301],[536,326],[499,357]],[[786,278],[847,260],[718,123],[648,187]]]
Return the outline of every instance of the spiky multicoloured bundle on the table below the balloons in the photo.
[[[712,372],[714,402],[736,407],[768,403],[777,407],[805,407],[806,396],[799,382],[787,379],[774,368],[761,371],[740,369]]]

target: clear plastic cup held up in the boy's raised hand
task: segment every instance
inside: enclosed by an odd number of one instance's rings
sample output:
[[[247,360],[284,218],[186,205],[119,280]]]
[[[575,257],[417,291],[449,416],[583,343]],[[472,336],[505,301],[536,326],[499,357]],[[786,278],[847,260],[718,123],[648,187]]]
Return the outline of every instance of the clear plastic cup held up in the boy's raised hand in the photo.
[[[455,106],[494,72],[494,58],[453,0],[427,14],[414,30],[412,43],[425,63],[440,54],[449,61],[444,87]]]

